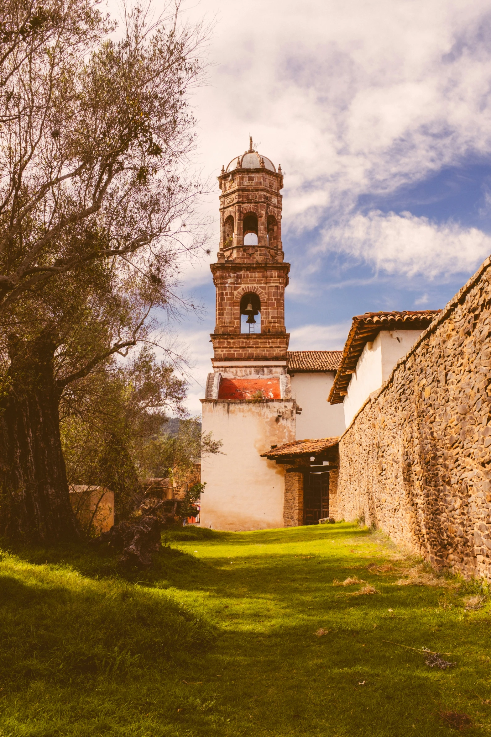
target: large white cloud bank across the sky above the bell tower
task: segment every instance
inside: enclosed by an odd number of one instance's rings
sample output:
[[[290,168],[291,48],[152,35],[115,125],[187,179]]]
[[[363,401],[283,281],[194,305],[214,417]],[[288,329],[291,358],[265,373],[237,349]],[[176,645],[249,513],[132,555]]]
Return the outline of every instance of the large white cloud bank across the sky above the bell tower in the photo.
[[[286,172],[286,226],[490,148],[487,1],[202,0],[193,13],[205,10],[219,16],[196,99],[203,164],[218,173],[252,133]]]

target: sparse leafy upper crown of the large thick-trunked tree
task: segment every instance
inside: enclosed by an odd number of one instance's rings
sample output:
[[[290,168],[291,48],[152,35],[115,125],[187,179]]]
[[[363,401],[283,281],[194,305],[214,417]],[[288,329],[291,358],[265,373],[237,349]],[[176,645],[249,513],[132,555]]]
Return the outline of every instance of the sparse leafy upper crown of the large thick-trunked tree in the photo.
[[[89,0],[2,8],[0,315],[35,306],[49,321],[52,290],[97,262],[116,290],[165,300],[169,266],[196,246],[180,236],[197,189],[183,159],[202,33],[169,6],[153,25],[135,7],[117,43]]]

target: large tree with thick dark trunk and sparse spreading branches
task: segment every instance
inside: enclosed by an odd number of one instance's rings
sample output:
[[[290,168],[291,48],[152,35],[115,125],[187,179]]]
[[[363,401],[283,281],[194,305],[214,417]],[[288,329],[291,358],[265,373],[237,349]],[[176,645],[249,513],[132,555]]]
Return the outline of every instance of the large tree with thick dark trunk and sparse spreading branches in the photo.
[[[0,532],[77,536],[58,402],[175,309],[198,182],[187,91],[202,28],[136,7],[124,36],[93,0],[0,9]],[[172,12],[171,12],[172,11]]]

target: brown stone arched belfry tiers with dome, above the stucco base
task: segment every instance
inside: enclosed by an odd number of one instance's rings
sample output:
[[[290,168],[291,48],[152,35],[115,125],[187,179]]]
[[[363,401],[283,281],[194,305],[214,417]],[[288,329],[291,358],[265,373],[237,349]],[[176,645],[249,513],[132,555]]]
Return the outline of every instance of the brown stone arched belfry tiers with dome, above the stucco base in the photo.
[[[216,287],[215,362],[286,360],[285,287],[290,265],[281,243],[281,167],[252,150],[219,175],[220,244],[211,265]],[[250,315],[250,307],[253,315]],[[244,329],[242,315],[250,320]],[[252,327],[251,327],[252,326]]]

